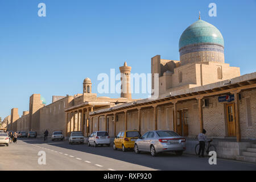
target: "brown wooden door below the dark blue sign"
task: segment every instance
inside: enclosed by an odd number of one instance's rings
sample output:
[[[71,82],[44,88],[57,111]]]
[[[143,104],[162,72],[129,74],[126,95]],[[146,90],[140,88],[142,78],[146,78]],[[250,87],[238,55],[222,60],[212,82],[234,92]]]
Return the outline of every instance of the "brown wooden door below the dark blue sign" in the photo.
[[[226,105],[226,121],[228,121],[228,136],[236,137],[236,121],[234,118],[234,104]]]

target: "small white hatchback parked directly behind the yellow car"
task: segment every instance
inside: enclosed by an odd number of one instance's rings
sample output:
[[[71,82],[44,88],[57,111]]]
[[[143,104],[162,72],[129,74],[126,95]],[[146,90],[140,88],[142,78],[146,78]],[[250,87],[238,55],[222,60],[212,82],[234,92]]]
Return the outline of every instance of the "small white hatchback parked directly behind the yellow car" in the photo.
[[[90,135],[88,139],[88,146],[93,145],[93,147],[96,147],[99,144],[106,144],[110,146],[110,138],[107,131],[94,131]]]

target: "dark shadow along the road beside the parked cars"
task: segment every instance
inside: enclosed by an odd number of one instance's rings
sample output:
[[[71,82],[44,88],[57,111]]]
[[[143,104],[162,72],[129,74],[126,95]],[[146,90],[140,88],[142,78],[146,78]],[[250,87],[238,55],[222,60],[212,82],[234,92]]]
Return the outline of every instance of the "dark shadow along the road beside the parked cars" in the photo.
[[[209,165],[208,157],[197,158],[197,156],[192,155],[177,156],[172,152],[160,153],[156,157],[153,157],[150,152],[135,154],[133,150],[126,152],[122,152],[122,150],[115,151],[112,146],[89,147],[86,143],[69,144],[67,140],[54,142],[51,140],[44,142],[43,138],[22,138],[20,140],[30,144],[46,143],[49,146],[85,152],[85,155],[86,153],[100,155],[159,170],[255,170],[256,166],[255,164],[239,163],[233,160],[218,160],[218,165]]]

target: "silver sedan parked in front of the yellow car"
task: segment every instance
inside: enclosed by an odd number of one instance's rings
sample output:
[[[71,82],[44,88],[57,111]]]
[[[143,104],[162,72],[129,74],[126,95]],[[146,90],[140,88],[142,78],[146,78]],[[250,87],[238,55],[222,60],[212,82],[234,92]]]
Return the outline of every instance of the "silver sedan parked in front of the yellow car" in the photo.
[[[174,131],[148,131],[135,141],[134,151],[136,154],[140,151],[150,152],[152,156],[156,156],[159,152],[170,151],[174,151],[177,155],[182,155],[186,149],[185,142],[186,139]]]

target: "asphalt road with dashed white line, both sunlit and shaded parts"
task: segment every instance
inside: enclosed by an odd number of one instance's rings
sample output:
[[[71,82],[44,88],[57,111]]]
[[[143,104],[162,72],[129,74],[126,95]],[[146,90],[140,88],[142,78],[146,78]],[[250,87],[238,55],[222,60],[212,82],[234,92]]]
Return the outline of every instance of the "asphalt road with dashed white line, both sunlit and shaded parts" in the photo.
[[[46,152],[46,165],[38,164],[39,151]],[[42,138],[0,146],[0,170],[256,170],[256,164],[217,159],[216,165],[210,165],[208,159],[172,153],[152,157],[145,152],[114,151],[111,146],[94,148],[67,141],[43,142]]]

